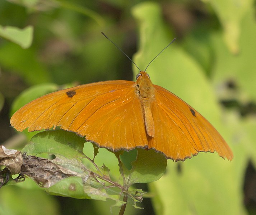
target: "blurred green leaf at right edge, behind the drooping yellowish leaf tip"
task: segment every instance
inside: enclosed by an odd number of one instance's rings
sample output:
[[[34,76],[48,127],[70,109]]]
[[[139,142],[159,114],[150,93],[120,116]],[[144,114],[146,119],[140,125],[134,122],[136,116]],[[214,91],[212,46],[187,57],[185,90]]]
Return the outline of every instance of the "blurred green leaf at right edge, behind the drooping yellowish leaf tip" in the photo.
[[[243,19],[241,30],[241,52],[237,55],[229,53],[219,33],[212,35],[211,42],[216,56],[213,68],[215,86],[220,91],[223,90],[225,82],[233,81],[238,88],[235,96],[245,104],[251,102],[251,99],[256,101],[256,25],[253,9]]]

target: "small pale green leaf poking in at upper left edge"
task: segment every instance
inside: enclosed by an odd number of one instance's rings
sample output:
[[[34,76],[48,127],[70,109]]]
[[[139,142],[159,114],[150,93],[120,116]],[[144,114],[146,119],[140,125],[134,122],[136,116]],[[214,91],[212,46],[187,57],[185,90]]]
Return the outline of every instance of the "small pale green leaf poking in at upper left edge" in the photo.
[[[10,40],[22,48],[28,48],[33,40],[33,27],[29,25],[24,29],[19,29],[17,27],[3,27],[0,25],[0,37]]]

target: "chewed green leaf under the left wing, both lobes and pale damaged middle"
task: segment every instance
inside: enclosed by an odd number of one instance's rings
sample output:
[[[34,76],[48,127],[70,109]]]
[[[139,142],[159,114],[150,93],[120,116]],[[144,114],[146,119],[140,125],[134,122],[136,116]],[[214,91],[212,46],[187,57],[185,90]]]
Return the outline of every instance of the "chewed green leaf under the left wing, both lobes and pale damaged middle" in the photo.
[[[82,160],[88,159],[83,154],[84,142],[84,138],[77,136],[75,133],[63,130],[50,130],[36,134],[31,139],[31,142],[22,149],[22,152],[31,155],[54,154],[56,158],[51,160],[51,162],[65,168],[64,172],[67,172],[68,176],[74,175],[47,188],[46,192],[49,194],[77,199],[104,201],[112,199],[116,201],[116,205],[124,204],[124,202],[119,200],[120,194],[118,192],[107,188],[107,185],[105,186],[108,183],[106,178],[108,178],[109,173],[109,169],[106,166],[98,169],[84,166]]]

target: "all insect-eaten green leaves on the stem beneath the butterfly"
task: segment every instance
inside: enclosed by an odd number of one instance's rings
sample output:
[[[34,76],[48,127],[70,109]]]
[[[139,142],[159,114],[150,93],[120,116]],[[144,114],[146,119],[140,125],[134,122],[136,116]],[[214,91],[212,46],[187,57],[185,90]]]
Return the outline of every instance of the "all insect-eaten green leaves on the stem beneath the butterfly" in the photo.
[[[129,171],[120,161],[119,154],[117,154],[121,173],[121,176],[118,174],[115,177],[120,177],[117,183],[111,179],[110,170],[104,163],[96,164],[94,159],[90,159],[83,153],[83,146],[84,138],[78,137],[72,132],[52,130],[36,134],[22,151],[35,156],[45,153],[49,156],[54,155],[56,158],[51,162],[65,168],[67,175],[71,176],[60,181],[51,178],[47,181],[47,185],[36,179],[35,181],[38,184],[47,187],[45,191],[49,194],[76,199],[112,199],[116,201],[115,206],[124,204],[120,200],[123,192],[126,192],[131,197],[135,205],[138,191],[128,191],[128,189],[134,183],[147,183],[158,180],[166,169],[166,158],[154,150],[138,149],[137,158],[132,162],[132,168]],[[85,159],[92,163],[93,167],[86,166],[86,162],[83,161]],[[49,183],[51,184],[50,187],[48,187]],[[119,188],[120,191],[116,191],[116,188]]]

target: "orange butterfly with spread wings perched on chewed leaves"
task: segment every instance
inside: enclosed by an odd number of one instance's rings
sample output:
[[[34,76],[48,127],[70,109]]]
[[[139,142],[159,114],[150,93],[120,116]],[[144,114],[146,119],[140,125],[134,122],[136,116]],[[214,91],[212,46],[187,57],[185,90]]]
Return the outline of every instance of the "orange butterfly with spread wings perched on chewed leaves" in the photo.
[[[111,151],[155,149],[184,161],[199,152],[233,154],[217,130],[176,95],[141,71],[133,81],[101,81],[42,96],[20,108],[11,125],[29,132],[61,129]]]

